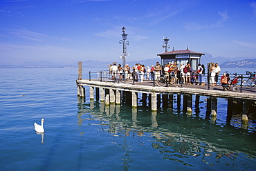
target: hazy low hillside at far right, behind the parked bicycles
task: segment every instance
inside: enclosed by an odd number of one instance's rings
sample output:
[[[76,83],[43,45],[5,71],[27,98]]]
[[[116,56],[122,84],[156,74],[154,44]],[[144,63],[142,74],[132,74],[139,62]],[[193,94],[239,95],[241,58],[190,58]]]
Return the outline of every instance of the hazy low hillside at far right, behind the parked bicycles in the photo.
[[[256,59],[243,59],[239,61],[224,62],[222,68],[256,68]]]

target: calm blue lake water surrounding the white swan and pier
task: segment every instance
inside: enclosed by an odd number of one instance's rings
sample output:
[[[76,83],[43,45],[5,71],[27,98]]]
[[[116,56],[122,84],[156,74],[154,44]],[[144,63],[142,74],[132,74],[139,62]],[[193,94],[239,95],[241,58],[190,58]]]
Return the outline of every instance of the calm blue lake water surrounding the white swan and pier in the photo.
[[[77,98],[77,68],[0,72],[0,170],[256,170],[255,120],[227,122],[226,99],[216,120],[205,97],[191,116],[175,104],[152,113],[90,101],[88,88]]]

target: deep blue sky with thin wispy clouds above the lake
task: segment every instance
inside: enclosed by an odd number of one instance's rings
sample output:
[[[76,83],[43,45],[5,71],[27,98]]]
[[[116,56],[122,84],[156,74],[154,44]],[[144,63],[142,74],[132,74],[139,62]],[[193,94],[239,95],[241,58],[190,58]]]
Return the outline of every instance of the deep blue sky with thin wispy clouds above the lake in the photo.
[[[120,63],[123,26],[129,61],[156,59],[163,37],[170,50],[255,58],[256,1],[1,0],[0,63]]]

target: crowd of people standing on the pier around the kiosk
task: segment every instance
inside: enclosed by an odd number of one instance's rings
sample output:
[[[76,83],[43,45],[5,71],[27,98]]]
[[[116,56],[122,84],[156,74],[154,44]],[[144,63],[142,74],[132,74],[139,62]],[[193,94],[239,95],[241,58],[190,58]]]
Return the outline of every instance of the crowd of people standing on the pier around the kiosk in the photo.
[[[125,65],[125,68],[119,64],[113,63],[109,66],[109,72],[111,73],[112,79],[134,79],[138,82],[143,82],[143,80],[156,80],[161,75],[165,77],[178,77],[180,81],[183,83],[191,85],[192,83],[196,83],[199,86],[203,86],[205,83],[205,79],[203,78],[205,75],[205,66],[201,63],[198,64],[197,70],[194,70],[190,63],[181,63],[179,66],[176,62],[167,63],[165,66],[161,66],[159,62],[156,62],[156,65],[152,65],[151,67],[145,67],[144,64],[136,63],[135,66],[129,66],[129,64]],[[216,86],[219,73],[221,68],[218,63],[213,63],[210,68],[210,82],[212,86]]]

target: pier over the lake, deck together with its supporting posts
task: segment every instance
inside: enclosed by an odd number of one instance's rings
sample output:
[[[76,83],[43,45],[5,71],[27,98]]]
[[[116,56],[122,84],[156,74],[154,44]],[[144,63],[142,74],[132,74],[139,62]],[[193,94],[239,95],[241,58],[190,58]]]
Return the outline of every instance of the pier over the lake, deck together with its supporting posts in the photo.
[[[116,103],[121,105],[122,101],[131,103],[132,108],[137,108],[138,93],[142,93],[143,103],[149,103],[152,111],[158,110],[158,104],[162,103],[163,108],[172,108],[174,94],[177,94],[177,105],[181,106],[181,96],[183,96],[183,111],[190,114],[192,112],[192,97],[195,96],[195,103],[199,103],[200,96],[207,97],[207,111],[212,117],[217,116],[217,99],[228,99],[228,113],[238,105],[241,107],[241,118],[244,124],[248,123],[248,112],[255,113],[256,88],[245,87],[242,92],[223,91],[222,86],[197,86],[183,85],[183,87],[159,87],[154,86],[154,81],[145,80],[142,83],[133,81],[109,82],[99,80],[82,79],[82,74],[78,74],[77,95],[85,97],[84,86],[89,86],[90,99],[104,101],[105,105]],[[147,105],[147,104],[145,104]],[[198,105],[198,104],[196,104]]]

